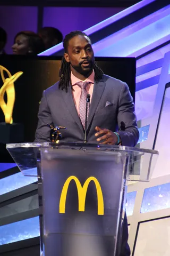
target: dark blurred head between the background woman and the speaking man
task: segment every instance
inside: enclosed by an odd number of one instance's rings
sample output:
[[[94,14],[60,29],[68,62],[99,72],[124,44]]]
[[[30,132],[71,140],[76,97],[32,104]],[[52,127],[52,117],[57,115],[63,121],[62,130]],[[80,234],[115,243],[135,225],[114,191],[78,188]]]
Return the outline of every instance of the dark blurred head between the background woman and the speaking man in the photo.
[[[63,42],[63,35],[60,30],[53,27],[44,27],[38,31],[38,35],[43,39],[45,49],[49,49],[56,44]]]

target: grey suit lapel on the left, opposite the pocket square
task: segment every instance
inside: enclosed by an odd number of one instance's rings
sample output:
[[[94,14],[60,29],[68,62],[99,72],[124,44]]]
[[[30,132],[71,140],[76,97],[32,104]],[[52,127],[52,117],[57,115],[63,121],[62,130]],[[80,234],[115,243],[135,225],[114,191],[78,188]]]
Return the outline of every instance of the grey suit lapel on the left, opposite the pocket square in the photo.
[[[74,100],[73,100],[73,95],[72,95],[72,87],[68,87],[67,93],[65,90],[61,90],[62,97],[65,101],[65,106],[67,109],[70,111],[70,115],[74,119],[74,121],[78,124],[80,127],[80,130],[84,133],[83,126],[80,121],[80,117],[78,115],[77,109],[75,108]]]

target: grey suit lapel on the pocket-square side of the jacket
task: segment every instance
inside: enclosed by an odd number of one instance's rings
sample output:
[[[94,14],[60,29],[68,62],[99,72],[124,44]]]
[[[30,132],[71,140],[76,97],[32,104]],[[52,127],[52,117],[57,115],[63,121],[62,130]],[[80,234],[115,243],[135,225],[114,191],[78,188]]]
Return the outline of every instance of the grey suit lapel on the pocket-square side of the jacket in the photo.
[[[94,91],[92,93],[92,99],[89,109],[89,115],[88,115],[88,122],[87,122],[87,129],[91,123],[92,118],[95,115],[95,111],[97,109],[97,106],[99,104],[100,98],[104,92],[106,83],[103,80],[100,80],[100,82],[94,84]]]

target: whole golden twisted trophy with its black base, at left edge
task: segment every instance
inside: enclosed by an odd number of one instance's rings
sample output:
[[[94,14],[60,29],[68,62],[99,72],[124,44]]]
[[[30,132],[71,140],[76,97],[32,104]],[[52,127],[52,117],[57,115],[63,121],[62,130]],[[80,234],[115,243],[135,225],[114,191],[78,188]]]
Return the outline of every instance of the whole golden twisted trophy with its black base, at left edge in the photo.
[[[22,142],[23,124],[13,123],[12,114],[15,102],[14,82],[23,74],[23,72],[19,71],[12,76],[10,71],[3,66],[0,66],[0,72],[3,82],[0,89],[0,108],[5,116],[5,122],[0,123],[0,143]],[[7,74],[7,78],[5,78],[4,73]],[[4,99],[5,92],[7,96],[6,101]]]

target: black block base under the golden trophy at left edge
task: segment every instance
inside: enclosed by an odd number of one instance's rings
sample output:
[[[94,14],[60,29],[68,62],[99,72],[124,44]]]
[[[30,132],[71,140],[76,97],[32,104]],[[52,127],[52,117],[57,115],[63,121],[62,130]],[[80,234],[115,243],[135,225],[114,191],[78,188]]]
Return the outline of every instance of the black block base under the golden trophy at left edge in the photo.
[[[0,123],[0,143],[17,143],[23,142],[23,124]]]

